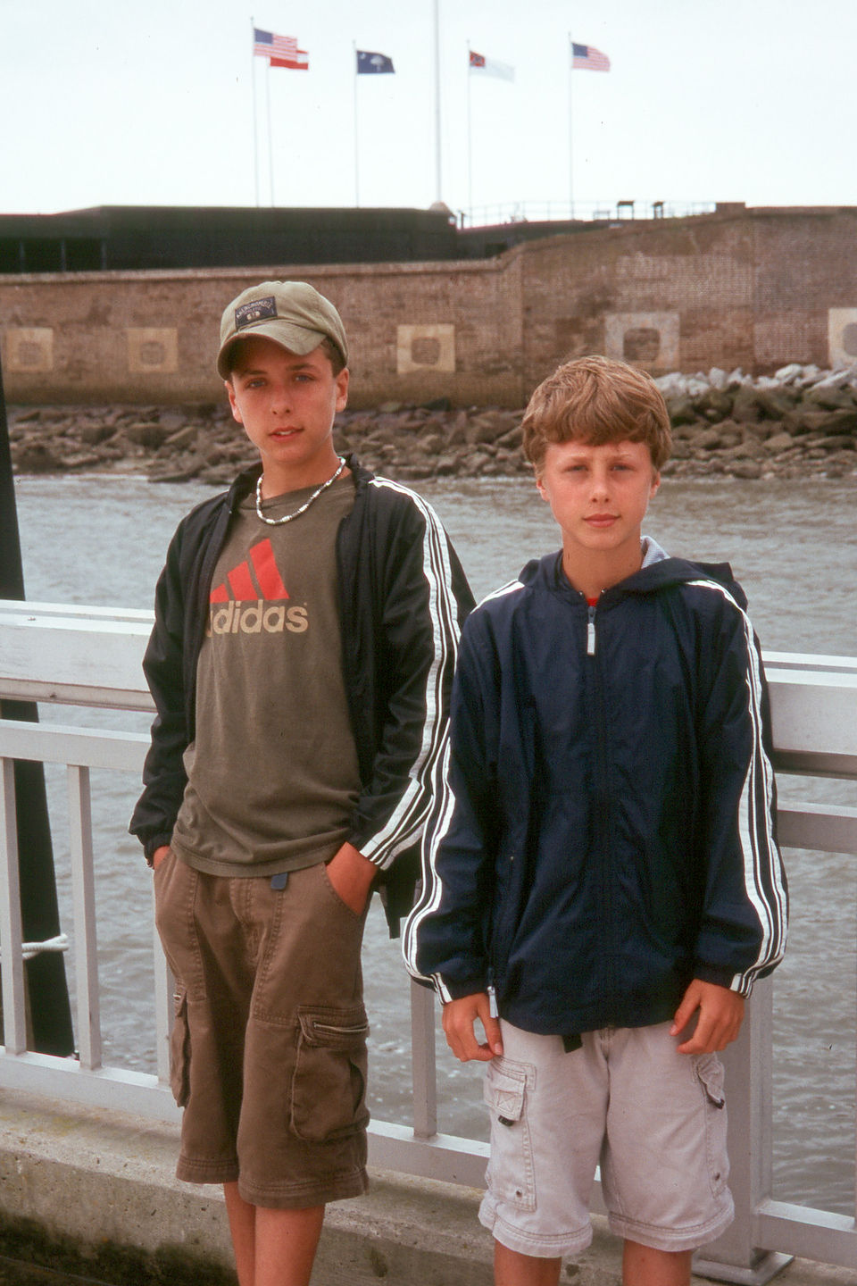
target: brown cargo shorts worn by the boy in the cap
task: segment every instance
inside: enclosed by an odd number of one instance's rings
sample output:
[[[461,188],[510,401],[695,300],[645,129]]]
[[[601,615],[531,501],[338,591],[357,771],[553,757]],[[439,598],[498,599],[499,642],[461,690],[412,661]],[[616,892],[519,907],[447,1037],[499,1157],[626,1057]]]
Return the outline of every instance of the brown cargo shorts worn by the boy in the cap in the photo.
[[[275,887],[204,874],[171,851],[154,885],[176,977],[177,1177],[238,1182],[245,1201],[272,1209],[365,1192],[365,914],[324,864]]]

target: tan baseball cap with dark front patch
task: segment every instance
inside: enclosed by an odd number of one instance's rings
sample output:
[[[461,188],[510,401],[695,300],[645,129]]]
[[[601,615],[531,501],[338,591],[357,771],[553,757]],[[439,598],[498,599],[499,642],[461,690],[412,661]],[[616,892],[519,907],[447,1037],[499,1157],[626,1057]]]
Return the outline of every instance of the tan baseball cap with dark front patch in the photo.
[[[346,364],[348,361],[342,318],[330,300],[307,282],[262,282],[242,291],[224,309],[217,354],[221,379],[229,379],[230,345],[252,334],[274,340],[301,356],[317,349],[322,340],[333,340]]]

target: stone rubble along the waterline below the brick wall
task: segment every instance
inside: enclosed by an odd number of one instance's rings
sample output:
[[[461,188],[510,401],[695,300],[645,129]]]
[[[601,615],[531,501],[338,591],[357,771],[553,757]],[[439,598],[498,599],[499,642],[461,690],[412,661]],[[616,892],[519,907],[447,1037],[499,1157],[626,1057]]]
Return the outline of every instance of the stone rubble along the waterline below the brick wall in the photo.
[[[857,364],[821,370],[791,363],[775,376],[740,369],[673,373],[659,385],[673,426],[673,477],[857,475]],[[522,410],[384,403],[337,417],[339,451],[401,480],[526,472]],[[17,473],[144,473],[153,482],[227,485],[256,451],[229,408],[9,408]]]

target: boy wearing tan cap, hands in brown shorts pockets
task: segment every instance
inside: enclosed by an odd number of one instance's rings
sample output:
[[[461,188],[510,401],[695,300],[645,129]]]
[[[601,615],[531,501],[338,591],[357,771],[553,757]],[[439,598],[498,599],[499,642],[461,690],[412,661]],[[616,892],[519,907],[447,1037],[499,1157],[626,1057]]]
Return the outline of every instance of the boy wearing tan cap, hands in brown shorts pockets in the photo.
[[[366,1188],[362,927],[375,886],[391,932],[410,904],[472,598],[430,507],[334,449],[328,300],[244,291],[217,369],[261,463],[170,545],[131,831],[176,975],[177,1175],[224,1184],[240,1286],[299,1286]]]

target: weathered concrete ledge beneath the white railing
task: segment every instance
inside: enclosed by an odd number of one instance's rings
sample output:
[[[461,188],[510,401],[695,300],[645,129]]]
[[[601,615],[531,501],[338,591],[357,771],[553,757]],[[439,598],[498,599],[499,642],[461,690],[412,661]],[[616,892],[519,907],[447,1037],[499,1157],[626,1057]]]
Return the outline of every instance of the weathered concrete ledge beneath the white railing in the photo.
[[[234,1286],[220,1192],[179,1183],[175,1128],[0,1091],[0,1255],[114,1286]],[[479,1193],[373,1172],[366,1197],[329,1208],[314,1286],[491,1286]],[[617,1286],[601,1219],[563,1282]],[[694,1278],[700,1281],[702,1278]],[[789,1264],[779,1286],[849,1283],[849,1269]]]

